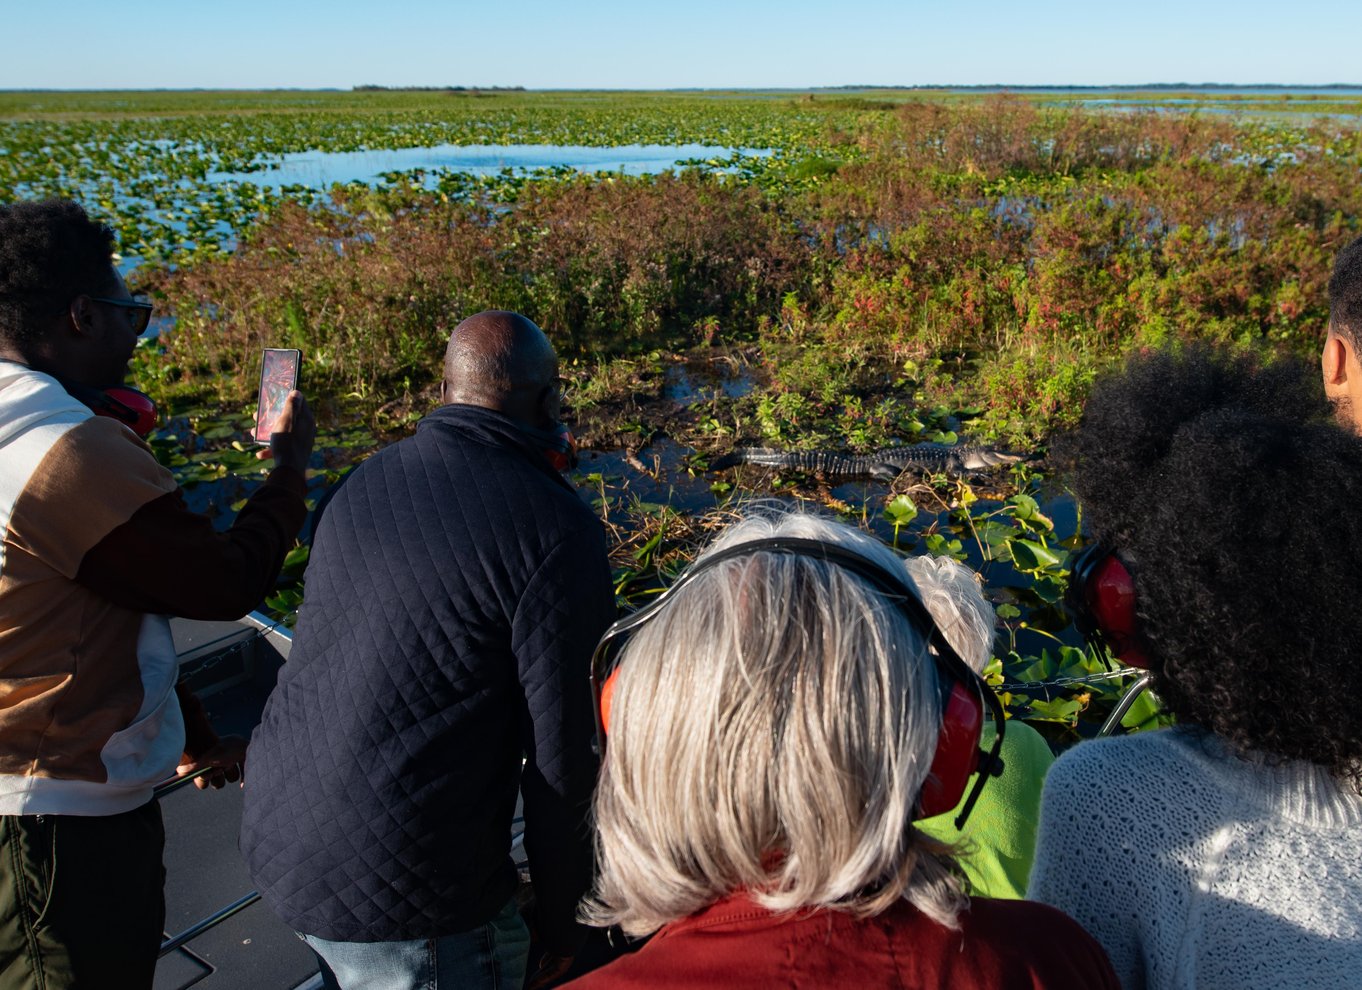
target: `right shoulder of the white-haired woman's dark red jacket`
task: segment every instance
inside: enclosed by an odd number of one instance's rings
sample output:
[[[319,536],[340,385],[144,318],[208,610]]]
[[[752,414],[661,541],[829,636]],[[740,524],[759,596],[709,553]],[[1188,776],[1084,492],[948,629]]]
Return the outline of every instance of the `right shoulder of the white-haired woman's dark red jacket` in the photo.
[[[990,957],[1004,972],[1019,978],[1017,986],[1038,990],[1120,986],[1102,946],[1058,908],[1031,900],[971,897],[959,921],[975,957],[981,963]],[[1027,978],[1020,978],[1023,974]]]

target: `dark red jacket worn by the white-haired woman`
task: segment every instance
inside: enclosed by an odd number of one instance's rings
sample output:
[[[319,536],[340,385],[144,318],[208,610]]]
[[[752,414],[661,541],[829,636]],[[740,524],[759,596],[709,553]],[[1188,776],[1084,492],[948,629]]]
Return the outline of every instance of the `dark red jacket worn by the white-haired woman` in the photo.
[[[745,895],[663,927],[573,990],[896,987],[1120,990],[1102,948],[1068,915],[974,897],[959,930],[899,901],[858,921],[840,911],[772,915]]]

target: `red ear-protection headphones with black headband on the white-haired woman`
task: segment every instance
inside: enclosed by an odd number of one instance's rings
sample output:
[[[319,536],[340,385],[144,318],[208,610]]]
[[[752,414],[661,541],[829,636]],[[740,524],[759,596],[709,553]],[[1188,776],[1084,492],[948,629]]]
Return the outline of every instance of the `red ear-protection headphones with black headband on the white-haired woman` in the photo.
[[[941,727],[937,733],[937,746],[932,757],[932,769],[928,773],[926,783],[922,784],[922,793],[918,795],[918,812],[915,817],[930,818],[936,814],[945,814],[959,805],[970,775],[978,772],[974,788],[970,791],[970,798],[955,820],[956,828],[963,828],[966,820],[970,817],[970,812],[974,810],[974,802],[979,799],[979,793],[983,790],[987,778],[1002,772],[1002,760],[998,757],[998,752],[1002,749],[1002,733],[1005,729],[1002,705],[983,680],[951,648],[945,636],[932,621],[926,606],[910,591],[904,579],[893,576],[878,564],[866,560],[858,553],[832,543],[824,543],[819,539],[775,537],[755,539],[726,550],[719,550],[682,573],[677,583],[655,602],[632,616],[621,618],[606,629],[591,658],[591,690],[597,701],[597,741],[601,752],[605,752],[606,731],[610,722],[610,701],[614,693],[614,678],[618,673],[620,650],[628,633],[652,618],[671,595],[695,580],[697,575],[725,561],[737,557],[750,557],[759,553],[812,557],[850,571],[870,584],[884,598],[893,602],[895,607],[903,613],[913,628],[928,643],[932,650],[932,659],[936,663],[937,682],[941,690]],[[993,748],[987,753],[979,749],[985,707],[993,712],[997,726]]]

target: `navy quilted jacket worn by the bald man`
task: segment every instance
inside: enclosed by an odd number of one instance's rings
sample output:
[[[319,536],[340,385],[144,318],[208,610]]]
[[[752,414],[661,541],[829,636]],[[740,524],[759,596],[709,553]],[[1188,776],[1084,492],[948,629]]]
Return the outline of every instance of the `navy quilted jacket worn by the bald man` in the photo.
[[[481,925],[515,888],[519,786],[539,936],[571,948],[613,616],[599,522],[512,421],[443,406],[364,462],[251,739],[241,848],[266,901],[334,941]]]

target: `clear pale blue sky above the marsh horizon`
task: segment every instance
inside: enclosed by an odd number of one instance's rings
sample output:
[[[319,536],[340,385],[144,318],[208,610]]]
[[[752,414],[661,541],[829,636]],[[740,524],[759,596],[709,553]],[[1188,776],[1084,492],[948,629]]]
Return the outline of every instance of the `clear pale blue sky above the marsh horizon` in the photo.
[[[0,0],[0,89],[1362,83],[1362,0]]]

